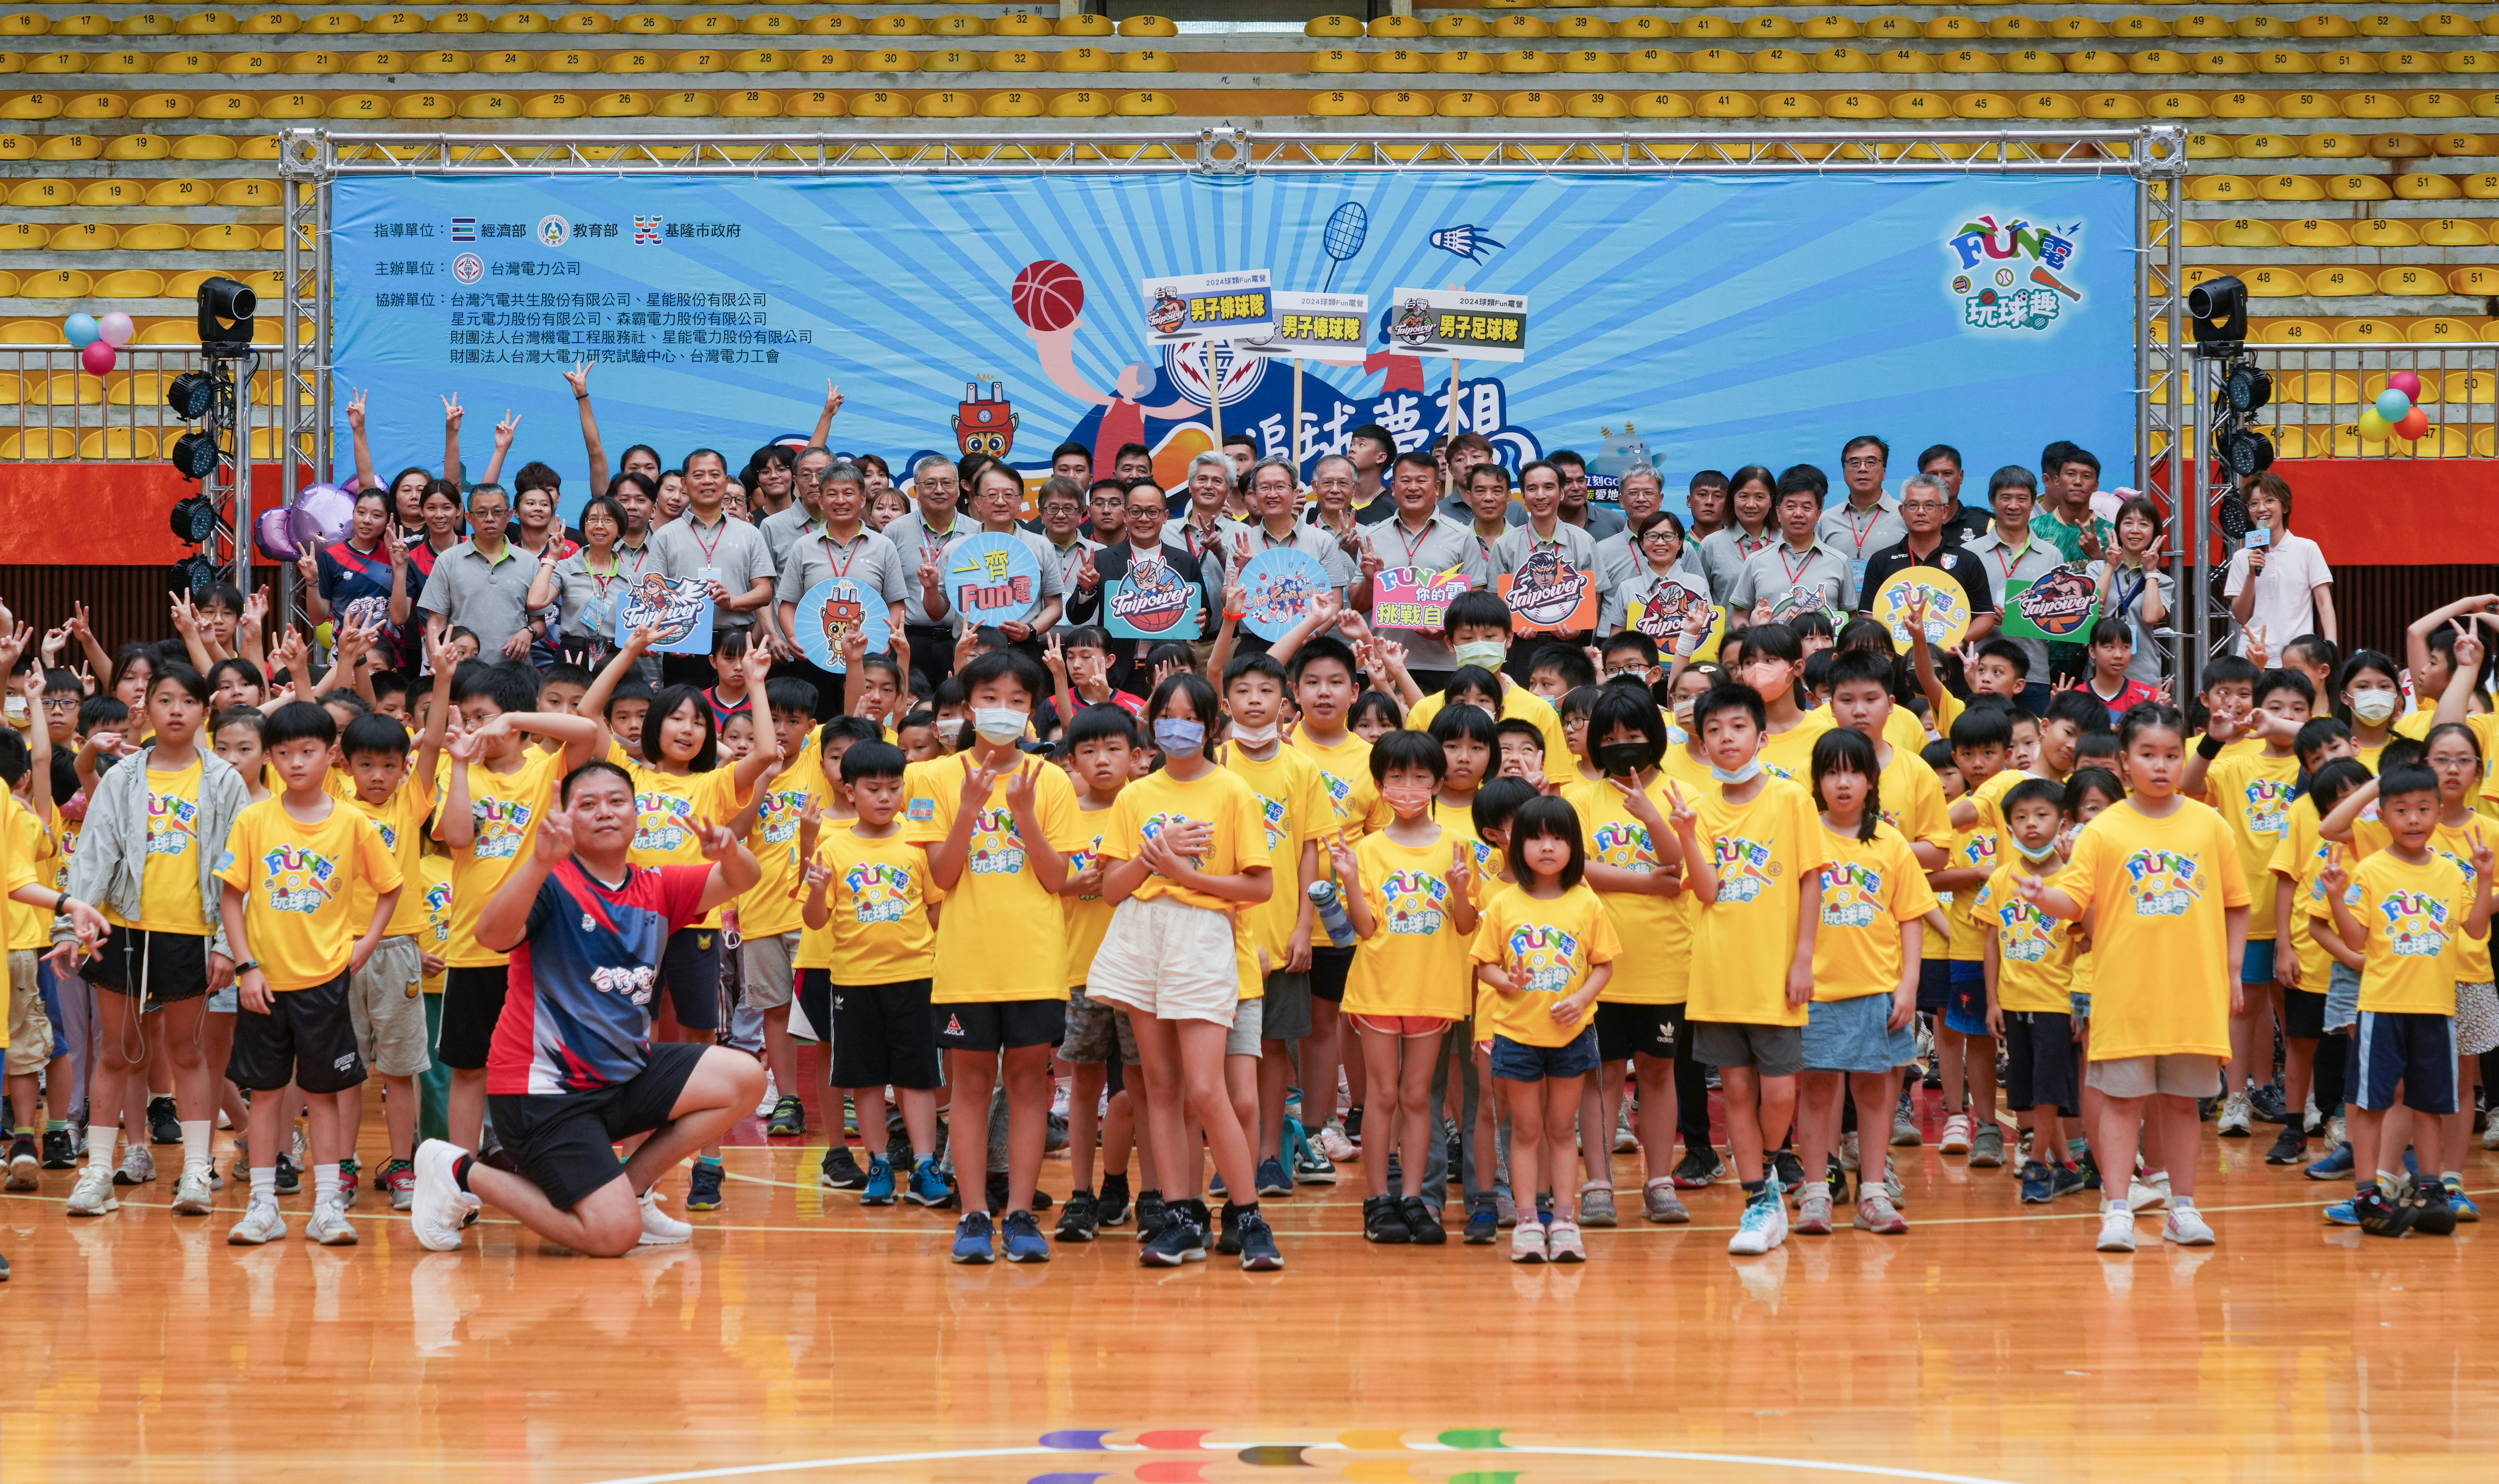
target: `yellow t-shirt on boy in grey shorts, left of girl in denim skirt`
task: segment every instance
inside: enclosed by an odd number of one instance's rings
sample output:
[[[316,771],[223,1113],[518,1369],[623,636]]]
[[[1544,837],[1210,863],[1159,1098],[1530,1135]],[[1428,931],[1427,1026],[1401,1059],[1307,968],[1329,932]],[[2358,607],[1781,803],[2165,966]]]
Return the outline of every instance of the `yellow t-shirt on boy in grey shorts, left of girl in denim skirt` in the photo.
[[[1717,902],[1692,932],[1687,1014],[1739,1024],[1804,1024],[1787,1002],[1797,962],[1802,884],[1829,864],[1822,817],[1802,784],[1769,779],[1747,804],[1722,789],[1699,797],[1699,837],[1717,849]],[[1814,877],[1807,877],[1814,872]]]

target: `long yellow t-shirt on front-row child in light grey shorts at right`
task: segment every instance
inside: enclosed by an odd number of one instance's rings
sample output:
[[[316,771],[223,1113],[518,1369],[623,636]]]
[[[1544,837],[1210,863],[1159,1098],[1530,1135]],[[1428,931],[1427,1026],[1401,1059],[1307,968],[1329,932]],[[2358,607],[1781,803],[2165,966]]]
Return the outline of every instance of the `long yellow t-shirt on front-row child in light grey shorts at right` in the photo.
[[[2094,1062],[2229,1057],[2224,912],[2247,907],[2247,874],[2219,812],[2177,797],[2154,819],[2119,799],[2082,827],[2049,884],[2092,914]]]

